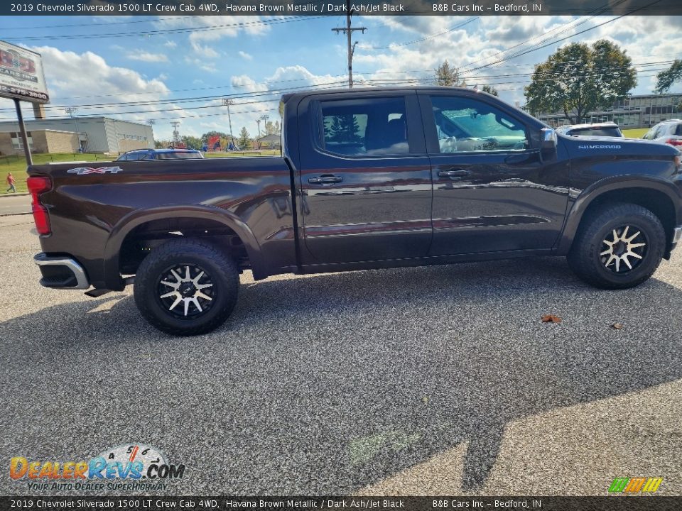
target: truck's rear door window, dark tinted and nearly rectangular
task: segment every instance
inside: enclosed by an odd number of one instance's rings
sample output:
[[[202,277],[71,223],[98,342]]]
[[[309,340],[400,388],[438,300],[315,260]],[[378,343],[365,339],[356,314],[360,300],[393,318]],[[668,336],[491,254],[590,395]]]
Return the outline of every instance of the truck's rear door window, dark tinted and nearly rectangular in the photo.
[[[403,98],[321,101],[323,149],[347,156],[409,152]]]

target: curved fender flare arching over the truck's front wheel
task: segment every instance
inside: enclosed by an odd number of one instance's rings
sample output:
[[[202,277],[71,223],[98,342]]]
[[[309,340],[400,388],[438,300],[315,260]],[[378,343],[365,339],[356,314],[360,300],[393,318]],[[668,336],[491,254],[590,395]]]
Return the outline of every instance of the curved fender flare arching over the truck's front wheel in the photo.
[[[665,194],[671,200],[675,209],[677,225],[682,223],[682,195],[670,180],[664,180],[655,176],[633,177],[632,175],[622,175],[607,177],[583,189],[573,201],[573,207],[568,211],[563,231],[558,240],[556,255],[566,255],[568,253],[573,243],[573,238],[575,238],[575,233],[578,231],[578,226],[580,226],[580,221],[592,202],[607,192],[633,188],[651,189]]]

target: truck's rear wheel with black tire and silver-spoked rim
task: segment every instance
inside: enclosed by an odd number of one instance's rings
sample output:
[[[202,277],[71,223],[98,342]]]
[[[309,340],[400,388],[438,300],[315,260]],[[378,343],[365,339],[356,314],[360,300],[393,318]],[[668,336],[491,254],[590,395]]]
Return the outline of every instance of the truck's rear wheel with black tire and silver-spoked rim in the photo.
[[[229,317],[237,303],[239,270],[219,248],[180,239],[158,246],[142,261],[135,303],[157,329],[176,336],[205,334]]]

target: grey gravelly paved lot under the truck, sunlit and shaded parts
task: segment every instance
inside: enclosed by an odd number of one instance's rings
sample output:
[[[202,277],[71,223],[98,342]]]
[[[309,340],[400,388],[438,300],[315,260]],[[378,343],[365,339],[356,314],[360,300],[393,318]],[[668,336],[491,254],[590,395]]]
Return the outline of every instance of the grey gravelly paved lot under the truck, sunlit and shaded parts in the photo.
[[[30,493],[13,456],[126,442],[187,467],[160,494],[682,494],[681,252],[624,292],[563,258],[243,275],[222,328],[177,339],[130,288],[40,287],[32,227],[0,218],[4,495]]]

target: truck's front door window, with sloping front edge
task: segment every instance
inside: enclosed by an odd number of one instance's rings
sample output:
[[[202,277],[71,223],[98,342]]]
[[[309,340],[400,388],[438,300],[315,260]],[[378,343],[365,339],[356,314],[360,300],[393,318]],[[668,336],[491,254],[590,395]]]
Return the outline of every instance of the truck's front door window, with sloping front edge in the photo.
[[[526,150],[525,127],[503,111],[465,97],[432,96],[440,153]]]

